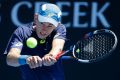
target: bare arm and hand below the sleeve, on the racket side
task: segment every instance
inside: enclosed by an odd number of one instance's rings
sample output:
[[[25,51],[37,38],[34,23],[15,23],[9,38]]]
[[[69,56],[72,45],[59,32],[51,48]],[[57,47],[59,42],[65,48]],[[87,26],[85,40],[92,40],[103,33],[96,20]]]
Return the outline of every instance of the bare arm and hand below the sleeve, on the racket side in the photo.
[[[51,66],[55,62],[57,62],[56,56],[59,54],[59,52],[62,51],[62,49],[64,47],[64,43],[65,43],[65,40],[63,40],[63,39],[54,39],[53,40],[51,51],[42,58],[43,65]]]

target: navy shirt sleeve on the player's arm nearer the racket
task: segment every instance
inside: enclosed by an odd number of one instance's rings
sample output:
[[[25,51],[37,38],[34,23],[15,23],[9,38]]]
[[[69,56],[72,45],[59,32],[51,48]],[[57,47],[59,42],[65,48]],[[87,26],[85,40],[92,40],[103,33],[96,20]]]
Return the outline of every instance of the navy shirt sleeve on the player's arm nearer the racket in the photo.
[[[66,40],[66,28],[64,25],[60,25],[56,28],[56,35],[54,39],[64,39]]]

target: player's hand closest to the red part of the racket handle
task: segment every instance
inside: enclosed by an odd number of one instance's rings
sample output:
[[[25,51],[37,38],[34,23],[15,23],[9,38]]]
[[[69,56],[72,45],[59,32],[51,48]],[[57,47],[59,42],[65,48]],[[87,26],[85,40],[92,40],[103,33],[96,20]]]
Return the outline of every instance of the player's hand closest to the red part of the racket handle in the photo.
[[[42,58],[42,63],[44,66],[51,66],[54,63],[56,63],[57,60],[55,59],[54,56],[52,56],[51,54],[46,54],[43,58]]]

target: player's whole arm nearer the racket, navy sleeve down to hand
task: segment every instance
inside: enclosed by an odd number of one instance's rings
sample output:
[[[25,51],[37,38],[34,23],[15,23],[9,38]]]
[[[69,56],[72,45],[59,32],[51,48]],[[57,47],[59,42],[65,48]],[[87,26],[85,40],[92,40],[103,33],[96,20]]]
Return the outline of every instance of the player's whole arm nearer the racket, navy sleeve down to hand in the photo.
[[[57,55],[62,51],[65,40],[66,40],[66,28],[64,25],[60,24],[60,27],[56,28],[56,35],[54,36],[53,42],[52,42],[52,49],[50,52],[45,55],[43,60],[43,65],[45,66],[51,66],[55,62],[57,62],[56,57]]]

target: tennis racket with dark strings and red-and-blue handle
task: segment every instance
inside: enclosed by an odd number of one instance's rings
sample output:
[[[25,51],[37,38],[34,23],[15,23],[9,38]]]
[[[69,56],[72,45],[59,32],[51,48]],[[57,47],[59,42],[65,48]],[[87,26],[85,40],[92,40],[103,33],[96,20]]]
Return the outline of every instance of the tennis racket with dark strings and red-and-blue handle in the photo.
[[[92,63],[108,57],[118,43],[115,33],[108,29],[95,30],[85,34],[84,38],[66,51],[61,51],[56,59],[76,59],[83,63]],[[65,56],[72,53],[72,56]]]

